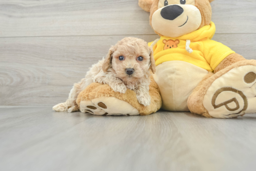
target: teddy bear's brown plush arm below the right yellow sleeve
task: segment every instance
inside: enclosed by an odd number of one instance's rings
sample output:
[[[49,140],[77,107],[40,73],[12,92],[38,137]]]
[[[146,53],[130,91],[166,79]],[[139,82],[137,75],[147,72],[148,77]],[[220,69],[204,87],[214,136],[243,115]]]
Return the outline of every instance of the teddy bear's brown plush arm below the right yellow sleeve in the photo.
[[[243,58],[242,55],[237,53],[232,53],[229,56],[227,56],[225,59],[222,60],[222,62],[215,68],[214,73],[221,71],[222,69],[226,68],[227,66],[230,66],[236,62],[246,60]]]

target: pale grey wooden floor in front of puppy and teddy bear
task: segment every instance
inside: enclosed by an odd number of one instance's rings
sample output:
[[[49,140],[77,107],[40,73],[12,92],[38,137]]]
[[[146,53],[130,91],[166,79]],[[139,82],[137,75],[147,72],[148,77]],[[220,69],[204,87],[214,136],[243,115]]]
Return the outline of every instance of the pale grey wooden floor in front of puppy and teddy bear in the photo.
[[[254,171],[256,115],[94,116],[0,108],[1,171]]]

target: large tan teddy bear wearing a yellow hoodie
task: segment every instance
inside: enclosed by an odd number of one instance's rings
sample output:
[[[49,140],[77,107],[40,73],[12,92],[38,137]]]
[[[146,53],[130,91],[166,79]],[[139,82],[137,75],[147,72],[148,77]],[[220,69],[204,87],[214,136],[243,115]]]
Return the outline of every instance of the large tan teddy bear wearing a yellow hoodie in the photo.
[[[160,108],[208,118],[256,112],[256,60],[212,40],[216,31],[212,1],[139,0],[160,36],[148,43],[156,64],[149,88],[151,104],[138,104],[133,91],[120,94],[93,83],[79,94],[79,107],[94,106],[98,115],[147,115]]]

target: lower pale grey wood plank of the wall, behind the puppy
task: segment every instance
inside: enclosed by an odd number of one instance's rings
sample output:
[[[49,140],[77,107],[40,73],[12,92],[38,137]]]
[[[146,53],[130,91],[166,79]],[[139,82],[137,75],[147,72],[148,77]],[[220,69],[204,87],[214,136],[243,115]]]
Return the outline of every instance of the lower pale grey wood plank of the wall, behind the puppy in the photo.
[[[157,35],[130,35],[154,41]],[[66,101],[75,82],[125,36],[0,39],[0,105],[55,105]],[[256,59],[256,34],[216,34],[213,38]]]

